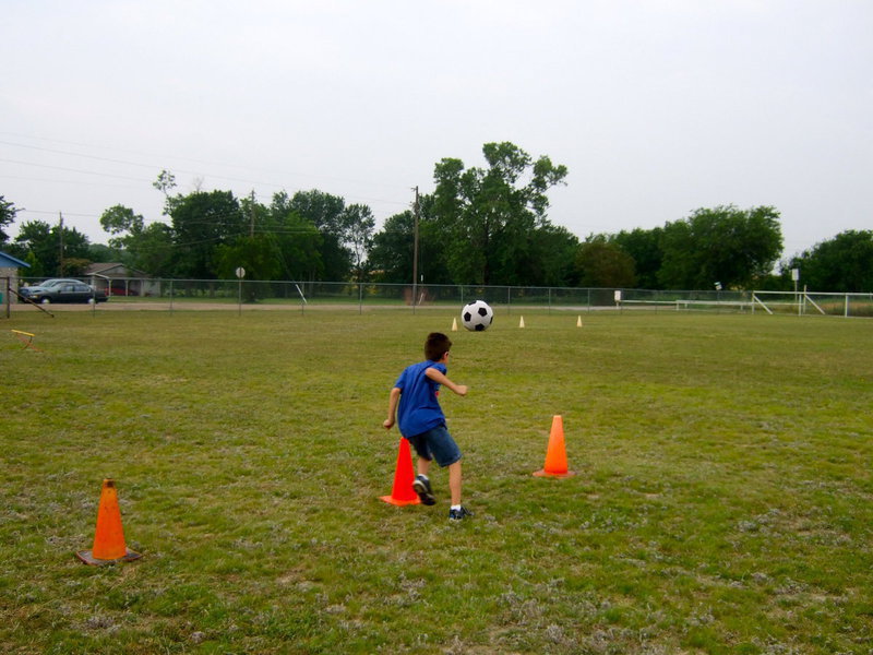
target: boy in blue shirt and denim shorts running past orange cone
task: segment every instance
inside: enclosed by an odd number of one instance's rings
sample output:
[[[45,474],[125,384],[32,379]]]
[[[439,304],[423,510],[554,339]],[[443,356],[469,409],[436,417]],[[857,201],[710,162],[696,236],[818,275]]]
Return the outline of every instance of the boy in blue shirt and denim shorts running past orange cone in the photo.
[[[424,361],[406,367],[394,383],[388,395],[388,417],[382,424],[390,430],[399,417],[400,434],[412,444],[418,453],[418,475],[412,488],[426,505],[436,502],[428,479],[431,460],[441,467],[449,467],[449,490],[452,504],[449,509],[451,521],[473,516],[461,504],[461,449],[445,427],[445,415],[436,400],[440,385],[447,386],[456,394],[467,395],[465,384],[455,384],[445,377],[449,349],[452,342],[440,332],[432,332],[424,341]]]

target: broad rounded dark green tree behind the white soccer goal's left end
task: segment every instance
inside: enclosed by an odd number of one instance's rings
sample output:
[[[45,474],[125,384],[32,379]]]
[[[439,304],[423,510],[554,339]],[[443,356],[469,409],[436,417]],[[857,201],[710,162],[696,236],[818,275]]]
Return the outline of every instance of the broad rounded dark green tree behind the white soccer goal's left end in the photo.
[[[779,212],[733,205],[701,209],[684,221],[668,223],[661,238],[658,274],[666,288],[749,288],[767,275],[782,250]]]

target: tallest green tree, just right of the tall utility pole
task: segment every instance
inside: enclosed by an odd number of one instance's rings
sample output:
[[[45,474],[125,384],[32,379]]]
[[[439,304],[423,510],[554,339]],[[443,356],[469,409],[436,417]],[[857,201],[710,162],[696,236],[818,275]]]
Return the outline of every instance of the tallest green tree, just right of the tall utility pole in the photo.
[[[521,284],[533,260],[531,233],[546,225],[546,192],[562,183],[565,166],[536,162],[516,145],[487,143],[487,169],[461,159],[434,167],[434,215],[447,228],[449,267],[455,282]]]

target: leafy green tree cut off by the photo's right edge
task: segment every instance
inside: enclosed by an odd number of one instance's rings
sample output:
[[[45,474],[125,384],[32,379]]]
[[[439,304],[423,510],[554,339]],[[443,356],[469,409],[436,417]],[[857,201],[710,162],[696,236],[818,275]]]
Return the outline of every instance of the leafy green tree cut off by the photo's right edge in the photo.
[[[847,230],[791,259],[802,284],[816,291],[873,291],[873,230]]]

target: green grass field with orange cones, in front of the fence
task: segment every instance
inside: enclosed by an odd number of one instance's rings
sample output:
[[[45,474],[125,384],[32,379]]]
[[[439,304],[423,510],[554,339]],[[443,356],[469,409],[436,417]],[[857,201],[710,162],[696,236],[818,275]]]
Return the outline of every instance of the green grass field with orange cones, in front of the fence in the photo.
[[[3,653],[873,652],[873,323],[583,320],[451,333],[457,525],[379,500],[449,313],[0,321]],[[105,477],[144,558],[92,568]]]

